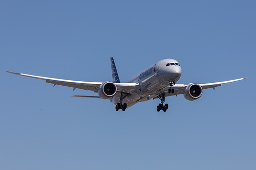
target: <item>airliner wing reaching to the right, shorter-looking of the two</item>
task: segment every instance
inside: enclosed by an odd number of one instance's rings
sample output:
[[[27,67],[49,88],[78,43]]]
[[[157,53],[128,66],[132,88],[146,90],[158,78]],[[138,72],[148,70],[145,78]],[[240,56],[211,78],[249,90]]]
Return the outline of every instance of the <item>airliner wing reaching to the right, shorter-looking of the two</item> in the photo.
[[[249,77],[249,76],[248,76],[248,77]],[[246,77],[246,78],[241,78],[241,79],[228,80],[228,81],[223,81],[223,82],[204,83],[204,84],[199,84],[199,85],[202,87],[202,89],[207,89],[207,88],[213,88],[213,89],[215,89],[215,87],[221,86],[222,84],[225,84],[225,83],[232,83],[232,82],[244,80],[244,79],[247,79],[248,77]],[[174,89],[174,93],[168,93],[168,88],[169,88],[169,87],[166,87],[166,88],[164,88],[165,96],[183,94],[183,90],[184,90],[187,86],[188,86],[188,84],[175,84],[174,86],[172,86],[172,88]]]

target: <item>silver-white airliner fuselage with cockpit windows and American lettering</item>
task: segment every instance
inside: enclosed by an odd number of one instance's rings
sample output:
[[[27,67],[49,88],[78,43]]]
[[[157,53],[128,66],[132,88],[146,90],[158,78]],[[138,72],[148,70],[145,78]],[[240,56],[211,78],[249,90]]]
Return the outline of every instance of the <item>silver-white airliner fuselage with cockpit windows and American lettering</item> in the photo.
[[[138,88],[134,92],[123,94],[123,103],[131,107],[138,102],[144,102],[163,93],[163,89],[169,86],[169,82],[177,82],[181,77],[181,67],[178,61],[174,59],[164,59],[156,64],[144,69],[139,74],[125,83],[137,83]],[[111,99],[113,105],[120,102],[120,96],[114,96]]]

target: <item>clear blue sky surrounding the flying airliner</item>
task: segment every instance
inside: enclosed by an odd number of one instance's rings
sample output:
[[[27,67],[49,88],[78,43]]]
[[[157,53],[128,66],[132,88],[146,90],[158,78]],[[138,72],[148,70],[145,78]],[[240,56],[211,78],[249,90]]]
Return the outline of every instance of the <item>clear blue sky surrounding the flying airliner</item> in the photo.
[[[1,1],[0,169],[255,169],[255,1]],[[165,58],[178,83],[249,79],[116,112],[5,70],[121,81]]]

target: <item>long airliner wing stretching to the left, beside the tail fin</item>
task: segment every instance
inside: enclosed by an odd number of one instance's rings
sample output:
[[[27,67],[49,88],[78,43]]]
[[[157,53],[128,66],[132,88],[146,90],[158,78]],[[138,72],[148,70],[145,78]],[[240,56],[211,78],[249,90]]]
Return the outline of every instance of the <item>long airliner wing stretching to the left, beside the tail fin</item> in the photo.
[[[74,80],[55,79],[55,78],[49,78],[49,77],[27,75],[27,74],[11,72],[11,71],[7,71],[7,72],[10,72],[11,74],[14,74],[14,75],[45,80],[46,83],[53,84],[53,87],[56,85],[72,87],[73,90],[75,90],[76,88],[79,88],[79,89],[83,89],[83,90],[91,90],[94,92],[98,92],[98,89],[99,89],[100,85],[102,84],[102,82],[74,81]],[[117,86],[118,92],[130,93],[130,92],[133,92],[137,88],[136,83],[115,83],[115,85]]]

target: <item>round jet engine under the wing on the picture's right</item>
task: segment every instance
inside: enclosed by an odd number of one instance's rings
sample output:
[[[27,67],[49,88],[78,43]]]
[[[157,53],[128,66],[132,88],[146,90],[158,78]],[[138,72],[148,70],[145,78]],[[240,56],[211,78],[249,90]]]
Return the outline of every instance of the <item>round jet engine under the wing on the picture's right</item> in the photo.
[[[203,89],[199,84],[190,83],[184,90],[183,95],[186,100],[194,101],[201,97]]]

